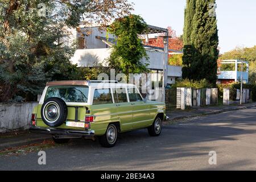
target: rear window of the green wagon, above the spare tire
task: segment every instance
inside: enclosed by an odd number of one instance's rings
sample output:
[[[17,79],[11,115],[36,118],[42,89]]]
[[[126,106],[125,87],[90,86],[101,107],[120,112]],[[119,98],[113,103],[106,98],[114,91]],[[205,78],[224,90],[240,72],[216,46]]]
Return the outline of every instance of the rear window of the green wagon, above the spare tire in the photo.
[[[65,102],[88,102],[88,92],[88,86],[49,86],[44,100],[58,97]]]

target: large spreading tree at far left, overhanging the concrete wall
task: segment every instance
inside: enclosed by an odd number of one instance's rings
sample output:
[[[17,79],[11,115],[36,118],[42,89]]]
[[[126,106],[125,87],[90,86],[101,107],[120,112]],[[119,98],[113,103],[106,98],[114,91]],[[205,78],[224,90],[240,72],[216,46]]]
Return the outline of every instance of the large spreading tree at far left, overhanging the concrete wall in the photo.
[[[0,102],[35,100],[46,81],[77,78],[65,45],[69,28],[107,24],[132,9],[127,0],[2,0],[0,2]],[[79,30],[79,29],[78,29]]]

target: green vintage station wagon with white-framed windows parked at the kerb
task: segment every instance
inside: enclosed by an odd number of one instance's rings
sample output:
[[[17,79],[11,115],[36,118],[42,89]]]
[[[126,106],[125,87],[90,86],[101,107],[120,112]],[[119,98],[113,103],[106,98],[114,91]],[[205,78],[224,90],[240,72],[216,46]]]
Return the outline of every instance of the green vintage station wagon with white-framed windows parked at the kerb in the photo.
[[[138,88],[117,81],[48,82],[32,111],[32,132],[51,134],[56,143],[96,139],[113,147],[119,133],[147,128],[157,137],[166,105],[143,99]]]

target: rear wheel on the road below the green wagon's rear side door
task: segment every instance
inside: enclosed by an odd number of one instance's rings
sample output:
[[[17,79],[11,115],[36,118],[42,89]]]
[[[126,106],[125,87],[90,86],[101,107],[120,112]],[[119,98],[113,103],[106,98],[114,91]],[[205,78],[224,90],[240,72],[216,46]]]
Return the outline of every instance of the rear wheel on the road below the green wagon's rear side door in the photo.
[[[117,126],[110,124],[106,133],[99,137],[99,141],[102,147],[114,147],[117,143],[118,130]]]

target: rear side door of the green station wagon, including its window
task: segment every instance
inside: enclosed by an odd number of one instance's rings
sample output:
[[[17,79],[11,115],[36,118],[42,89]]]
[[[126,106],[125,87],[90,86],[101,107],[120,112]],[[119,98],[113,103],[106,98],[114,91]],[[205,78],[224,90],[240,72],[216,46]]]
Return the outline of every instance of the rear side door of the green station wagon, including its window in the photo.
[[[128,131],[133,129],[133,109],[128,102],[127,88],[113,88],[113,98],[115,113],[118,114],[121,130]]]

